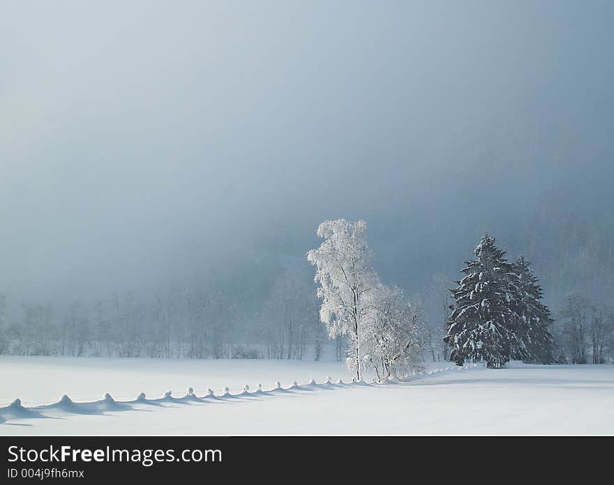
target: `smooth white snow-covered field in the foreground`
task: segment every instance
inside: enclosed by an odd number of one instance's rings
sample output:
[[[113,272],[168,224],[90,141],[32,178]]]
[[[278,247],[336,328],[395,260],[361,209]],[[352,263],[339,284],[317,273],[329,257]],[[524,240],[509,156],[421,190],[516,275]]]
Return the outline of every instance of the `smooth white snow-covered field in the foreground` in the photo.
[[[428,367],[405,382],[348,385],[336,362],[3,356],[0,434],[614,434],[614,365]],[[23,407],[8,406],[15,398]]]

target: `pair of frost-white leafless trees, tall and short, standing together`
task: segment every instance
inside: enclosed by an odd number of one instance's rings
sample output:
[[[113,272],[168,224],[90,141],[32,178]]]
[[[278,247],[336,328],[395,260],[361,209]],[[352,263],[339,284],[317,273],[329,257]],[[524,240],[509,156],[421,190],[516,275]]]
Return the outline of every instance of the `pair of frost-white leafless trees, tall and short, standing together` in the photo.
[[[329,220],[320,224],[317,236],[324,242],[307,259],[320,285],[320,320],[331,337],[347,337],[347,363],[356,380],[366,365],[380,378],[419,367],[422,312],[403,300],[400,288],[380,284],[370,265],[366,223]]]

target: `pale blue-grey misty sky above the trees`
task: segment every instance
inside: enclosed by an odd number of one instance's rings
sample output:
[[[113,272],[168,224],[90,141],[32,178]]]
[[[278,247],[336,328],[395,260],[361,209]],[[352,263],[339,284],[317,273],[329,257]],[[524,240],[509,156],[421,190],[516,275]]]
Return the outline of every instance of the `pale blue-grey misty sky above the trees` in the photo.
[[[396,279],[404,245],[442,270],[493,226],[513,247],[542,203],[611,210],[613,21],[597,0],[2,1],[0,293],[304,257],[331,217],[364,218]]]

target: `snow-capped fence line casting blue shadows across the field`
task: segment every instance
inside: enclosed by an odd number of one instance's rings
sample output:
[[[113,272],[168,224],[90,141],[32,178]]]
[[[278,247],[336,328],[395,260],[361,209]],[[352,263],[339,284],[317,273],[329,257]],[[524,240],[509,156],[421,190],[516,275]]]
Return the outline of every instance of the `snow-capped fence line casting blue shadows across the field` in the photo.
[[[137,394],[134,399],[129,399],[126,401],[116,401],[111,394],[108,392],[103,395],[102,399],[96,401],[80,401],[75,402],[66,394],[63,394],[59,401],[54,403],[41,404],[38,406],[26,407],[23,406],[21,399],[17,398],[13,400],[8,406],[0,408],[0,423],[6,422],[6,418],[8,419],[29,419],[29,418],[45,418],[49,417],[43,414],[45,410],[61,410],[65,413],[73,413],[73,414],[104,414],[106,411],[128,411],[135,410],[133,405],[135,404],[149,404],[149,405],[160,405],[161,403],[190,403],[190,402],[201,402],[205,403],[207,401],[214,400],[223,400],[223,399],[241,399],[242,397],[259,397],[263,395],[274,396],[276,392],[294,392],[294,391],[310,391],[315,390],[317,388],[343,388],[343,387],[371,387],[371,386],[380,386],[380,385],[389,385],[396,383],[408,383],[414,378],[417,377],[425,377],[433,374],[440,374],[442,372],[451,372],[451,371],[462,371],[463,369],[470,369],[478,366],[483,366],[484,364],[467,364],[463,367],[458,367],[452,365],[451,367],[447,367],[445,369],[433,369],[433,370],[424,370],[419,372],[414,372],[414,374],[407,376],[407,378],[398,379],[398,378],[386,378],[384,380],[375,381],[371,383],[367,383],[365,380],[355,380],[352,379],[350,382],[343,382],[343,380],[338,379],[336,383],[333,383],[333,380],[330,376],[328,376],[324,382],[317,383],[314,379],[310,379],[307,383],[299,385],[296,380],[293,380],[289,387],[282,387],[279,381],[276,381],[274,387],[271,387],[269,390],[262,390],[262,384],[257,385],[257,389],[253,392],[250,392],[249,385],[244,385],[244,389],[242,392],[238,394],[231,394],[230,389],[228,387],[224,387],[222,394],[215,394],[215,392],[211,389],[207,389],[206,394],[198,397],[193,387],[188,387],[186,390],[186,394],[181,397],[174,397],[172,395],[172,391],[164,392],[161,397],[158,398],[148,398],[144,392],[140,392]]]

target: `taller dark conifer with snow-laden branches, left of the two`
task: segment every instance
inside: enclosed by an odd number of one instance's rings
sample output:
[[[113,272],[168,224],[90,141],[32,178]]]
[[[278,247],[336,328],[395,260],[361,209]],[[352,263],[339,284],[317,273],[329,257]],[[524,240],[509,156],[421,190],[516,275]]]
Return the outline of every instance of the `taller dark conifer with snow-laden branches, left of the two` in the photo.
[[[469,359],[501,367],[524,355],[512,304],[518,298],[518,277],[488,234],[481,237],[474,254],[477,259],[466,263],[461,270],[466,276],[452,290],[454,303],[444,341],[458,365]]]

